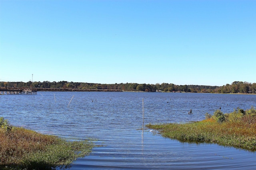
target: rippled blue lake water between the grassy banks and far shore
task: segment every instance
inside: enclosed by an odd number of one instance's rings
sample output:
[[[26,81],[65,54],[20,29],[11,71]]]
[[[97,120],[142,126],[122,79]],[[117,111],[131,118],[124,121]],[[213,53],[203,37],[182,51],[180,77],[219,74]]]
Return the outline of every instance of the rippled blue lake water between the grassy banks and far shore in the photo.
[[[0,117],[40,133],[71,140],[90,137],[104,145],[78,158],[70,170],[255,169],[255,152],[181,143],[151,129],[142,131],[142,99],[144,125],[201,121],[220,107],[224,113],[256,107],[256,95],[243,94],[38,92],[0,95]]]

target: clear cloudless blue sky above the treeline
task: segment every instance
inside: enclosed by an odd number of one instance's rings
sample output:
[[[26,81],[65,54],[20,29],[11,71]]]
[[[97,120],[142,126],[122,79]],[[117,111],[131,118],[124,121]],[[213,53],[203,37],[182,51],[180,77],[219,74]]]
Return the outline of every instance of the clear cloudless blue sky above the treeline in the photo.
[[[0,0],[0,81],[256,82],[256,0]]]

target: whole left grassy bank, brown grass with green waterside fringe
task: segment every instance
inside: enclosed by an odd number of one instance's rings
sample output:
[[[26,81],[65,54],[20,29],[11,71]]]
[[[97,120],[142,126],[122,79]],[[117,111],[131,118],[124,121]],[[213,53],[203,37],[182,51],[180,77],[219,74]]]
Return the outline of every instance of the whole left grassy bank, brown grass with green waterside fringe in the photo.
[[[0,117],[0,169],[50,170],[69,166],[92,151],[90,141],[66,141],[20,127]]]

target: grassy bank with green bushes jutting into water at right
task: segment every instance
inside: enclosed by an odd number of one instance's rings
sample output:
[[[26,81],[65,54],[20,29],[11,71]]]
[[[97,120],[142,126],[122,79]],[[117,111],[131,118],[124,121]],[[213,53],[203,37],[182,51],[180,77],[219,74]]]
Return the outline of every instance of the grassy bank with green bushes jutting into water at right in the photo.
[[[163,137],[182,142],[217,143],[219,145],[256,151],[256,109],[235,109],[232,113],[216,110],[206,119],[185,124],[146,125]]]

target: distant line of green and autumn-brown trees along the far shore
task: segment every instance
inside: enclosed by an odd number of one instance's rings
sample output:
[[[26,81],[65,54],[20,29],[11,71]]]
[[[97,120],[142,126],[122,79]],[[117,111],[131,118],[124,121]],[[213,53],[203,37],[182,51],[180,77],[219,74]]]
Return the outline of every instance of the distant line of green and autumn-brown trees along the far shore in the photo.
[[[144,91],[144,92],[194,92],[194,93],[256,93],[256,83],[235,81],[225,86],[202,86],[202,85],[176,85],[176,84],[98,84],[83,82],[0,82],[0,87],[17,88],[62,88],[62,89],[104,89],[123,91]]]

